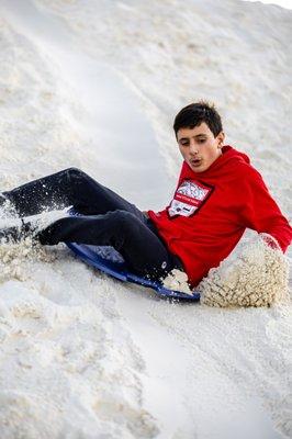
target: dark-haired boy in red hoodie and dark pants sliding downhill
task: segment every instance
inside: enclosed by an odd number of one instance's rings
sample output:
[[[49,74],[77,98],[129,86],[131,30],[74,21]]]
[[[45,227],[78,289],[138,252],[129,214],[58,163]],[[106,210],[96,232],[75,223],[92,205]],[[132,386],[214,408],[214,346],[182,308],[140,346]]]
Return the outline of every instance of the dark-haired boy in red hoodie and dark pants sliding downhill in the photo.
[[[3,192],[2,200],[21,217],[74,205],[81,216],[38,232],[41,244],[110,245],[139,274],[160,278],[179,268],[192,288],[228,256],[246,227],[271,235],[285,251],[292,229],[248,157],[224,146],[215,108],[206,102],[183,108],[173,130],[183,164],[173,199],[161,212],[141,212],[75,168]],[[23,229],[30,227],[24,218]],[[15,238],[14,229],[2,232],[9,234]]]

